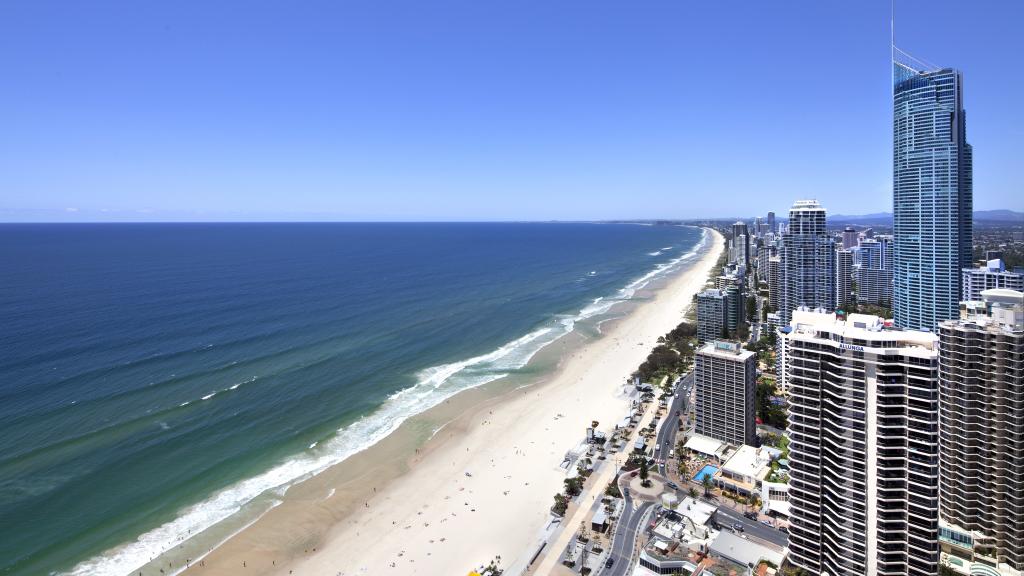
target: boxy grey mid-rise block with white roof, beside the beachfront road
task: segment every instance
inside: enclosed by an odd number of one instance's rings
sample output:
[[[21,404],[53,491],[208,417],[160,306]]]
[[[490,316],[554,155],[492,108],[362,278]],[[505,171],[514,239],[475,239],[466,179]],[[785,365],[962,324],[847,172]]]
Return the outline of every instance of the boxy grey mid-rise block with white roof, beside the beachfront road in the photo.
[[[695,355],[694,434],[740,446],[756,444],[757,355],[739,342],[716,340]]]

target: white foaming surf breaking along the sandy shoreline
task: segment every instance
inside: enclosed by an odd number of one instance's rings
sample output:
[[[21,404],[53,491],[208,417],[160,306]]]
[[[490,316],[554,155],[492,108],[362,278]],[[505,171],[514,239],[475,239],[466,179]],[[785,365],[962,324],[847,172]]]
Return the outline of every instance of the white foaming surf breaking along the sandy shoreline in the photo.
[[[173,521],[142,534],[134,541],[80,563],[69,574],[123,576],[137,571],[139,567],[150,562],[150,559],[158,558],[173,549],[183,540],[238,513],[245,504],[257,496],[273,494],[278,499],[270,505],[280,504],[280,498],[290,486],[370,448],[397,429],[410,417],[444,402],[460,392],[492,382],[507,376],[513,370],[522,368],[545,345],[571,332],[577,322],[604,314],[615,303],[633,297],[637,290],[658,275],[672,271],[692,258],[707,241],[708,232],[705,231],[700,242],[689,252],[670,262],[658,264],[651,272],[629,283],[618,291],[615,298],[595,298],[575,316],[558,319],[556,326],[539,328],[488,354],[420,371],[417,374],[416,384],[394,393],[375,412],[340,428],[339,434],[330,440],[319,445],[313,443],[308,451],[291,460],[213,494],[210,498],[183,509]],[[247,381],[252,380],[255,380],[255,377]],[[227,389],[234,389],[241,383],[243,382]],[[204,400],[215,394],[207,395]],[[186,404],[188,403],[183,405]]]

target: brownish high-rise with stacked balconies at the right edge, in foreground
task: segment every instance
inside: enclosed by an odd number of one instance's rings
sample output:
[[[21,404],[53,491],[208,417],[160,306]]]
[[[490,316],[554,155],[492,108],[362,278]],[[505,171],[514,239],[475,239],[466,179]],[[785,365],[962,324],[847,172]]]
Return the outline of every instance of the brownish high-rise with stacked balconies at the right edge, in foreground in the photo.
[[[1024,294],[982,291],[939,337],[943,563],[1024,570]]]

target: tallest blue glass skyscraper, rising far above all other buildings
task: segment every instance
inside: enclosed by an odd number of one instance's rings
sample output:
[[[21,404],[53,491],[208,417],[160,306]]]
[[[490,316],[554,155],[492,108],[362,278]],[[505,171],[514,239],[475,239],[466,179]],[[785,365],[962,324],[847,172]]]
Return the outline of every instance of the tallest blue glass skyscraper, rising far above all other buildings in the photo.
[[[935,331],[958,317],[971,266],[972,170],[956,70],[893,61],[893,317]]]

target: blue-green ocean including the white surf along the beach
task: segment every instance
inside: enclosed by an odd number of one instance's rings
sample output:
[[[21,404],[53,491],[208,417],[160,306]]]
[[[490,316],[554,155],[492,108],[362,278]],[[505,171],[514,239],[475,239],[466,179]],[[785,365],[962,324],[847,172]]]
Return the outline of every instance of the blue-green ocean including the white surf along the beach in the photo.
[[[0,225],[0,574],[122,575],[514,374],[699,230]]]

